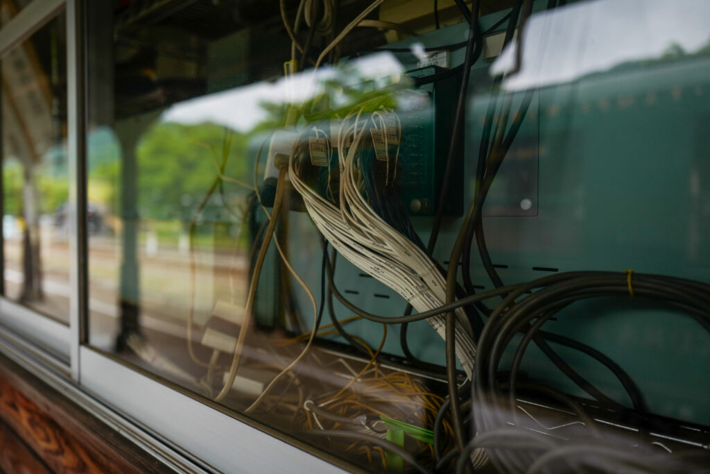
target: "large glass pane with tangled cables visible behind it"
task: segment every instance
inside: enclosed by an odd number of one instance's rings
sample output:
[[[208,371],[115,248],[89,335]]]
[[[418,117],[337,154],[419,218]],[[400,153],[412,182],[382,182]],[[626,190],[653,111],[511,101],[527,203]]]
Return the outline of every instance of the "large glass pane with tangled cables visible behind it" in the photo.
[[[99,3],[91,345],[366,470],[707,445],[710,4]]]

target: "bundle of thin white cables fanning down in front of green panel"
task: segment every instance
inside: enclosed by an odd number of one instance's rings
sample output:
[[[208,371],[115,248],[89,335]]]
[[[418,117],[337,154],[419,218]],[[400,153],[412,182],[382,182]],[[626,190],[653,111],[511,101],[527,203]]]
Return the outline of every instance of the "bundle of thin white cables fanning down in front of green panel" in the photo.
[[[342,121],[335,137],[340,171],[339,206],[300,178],[302,163],[295,156],[300,140],[290,153],[290,181],[302,196],[315,225],[343,257],[399,293],[415,310],[422,312],[438,308],[446,300],[446,284],[434,262],[377,215],[364,196],[359,150],[364,140],[371,139],[371,126],[377,129],[381,120],[377,115],[379,112],[372,117],[368,114],[366,118],[362,117],[362,113],[363,109],[351,112]],[[309,130],[305,129],[302,134]],[[397,133],[401,133],[400,129]],[[383,136],[386,134],[383,133]],[[389,156],[386,159],[389,161]],[[444,315],[433,316],[427,321],[442,338],[446,337]],[[459,308],[456,352],[466,375],[470,377],[476,346],[468,328],[464,311]]]

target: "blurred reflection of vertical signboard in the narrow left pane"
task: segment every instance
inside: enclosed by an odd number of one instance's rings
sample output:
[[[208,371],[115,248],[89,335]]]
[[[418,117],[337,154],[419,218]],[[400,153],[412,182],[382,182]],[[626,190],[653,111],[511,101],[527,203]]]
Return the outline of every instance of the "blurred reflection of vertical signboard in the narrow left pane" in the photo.
[[[0,6],[4,24],[17,6],[11,0]],[[4,156],[37,161],[53,139],[52,95],[31,41],[13,48],[3,58],[1,70]]]

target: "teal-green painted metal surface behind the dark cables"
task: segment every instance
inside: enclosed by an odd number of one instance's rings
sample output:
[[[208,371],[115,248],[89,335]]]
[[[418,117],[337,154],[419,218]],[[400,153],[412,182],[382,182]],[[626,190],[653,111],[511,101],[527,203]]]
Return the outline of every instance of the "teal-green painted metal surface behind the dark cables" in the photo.
[[[538,2],[539,3],[539,2]],[[484,28],[500,15],[483,18]],[[465,39],[465,26],[408,41],[424,45]],[[407,42],[405,42],[406,44]],[[452,64],[462,50],[454,51]],[[405,68],[413,56],[398,54]],[[490,91],[487,63],[472,78],[465,136],[465,196],[474,185],[481,115]],[[484,217],[488,247],[503,281],[515,283],[557,271],[611,270],[671,274],[710,281],[710,57],[646,61],[579,77],[537,91],[520,139],[537,147],[530,161],[501,170]],[[405,157],[404,157],[405,158]],[[518,173],[518,178],[515,178]],[[506,188],[532,180],[532,212],[511,215]],[[513,180],[513,181],[511,181]],[[533,191],[534,190],[534,191]],[[507,200],[507,201],[506,201]],[[506,205],[500,205],[506,203]],[[496,207],[497,206],[497,207]],[[506,208],[508,210],[506,210]],[[423,240],[431,219],[413,217]],[[460,225],[444,220],[435,257],[446,262]],[[297,269],[320,296],[320,247],[306,215],[292,219]],[[474,250],[474,283],[491,287]],[[339,259],[339,289],[357,305],[398,316],[405,302],[396,293]],[[307,308],[306,300],[300,307]],[[339,318],[351,316],[336,303]],[[367,321],[349,332],[376,346],[382,328]],[[576,303],[545,325],[601,350],[639,385],[649,409],[660,415],[710,424],[710,335],[691,318],[657,303],[604,298]],[[444,362],[444,343],[425,322],[413,323],[410,348],[428,362]],[[389,328],[384,351],[400,355],[398,327]],[[621,384],[598,362],[559,348],[572,366],[604,392],[629,404]],[[535,348],[523,369],[567,392],[583,396]]]

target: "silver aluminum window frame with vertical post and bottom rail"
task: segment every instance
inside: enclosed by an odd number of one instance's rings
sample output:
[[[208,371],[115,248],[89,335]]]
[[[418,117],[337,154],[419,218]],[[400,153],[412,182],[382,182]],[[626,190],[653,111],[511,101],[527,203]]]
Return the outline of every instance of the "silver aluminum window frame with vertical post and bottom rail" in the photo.
[[[0,296],[0,352],[177,472],[354,470],[339,458],[87,345],[88,1],[34,0],[0,28],[2,58],[65,9],[70,190],[70,323]]]

